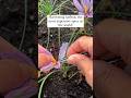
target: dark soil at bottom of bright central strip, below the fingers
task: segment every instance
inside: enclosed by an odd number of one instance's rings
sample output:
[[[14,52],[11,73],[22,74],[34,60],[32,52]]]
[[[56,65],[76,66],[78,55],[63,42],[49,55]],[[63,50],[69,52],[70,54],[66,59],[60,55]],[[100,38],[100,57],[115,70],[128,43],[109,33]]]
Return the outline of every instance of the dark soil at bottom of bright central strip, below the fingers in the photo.
[[[68,76],[63,77],[61,72],[56,73],[45,85],[44,98],[90,98],[92,96],[91,87],[79,73],[70,79]]]

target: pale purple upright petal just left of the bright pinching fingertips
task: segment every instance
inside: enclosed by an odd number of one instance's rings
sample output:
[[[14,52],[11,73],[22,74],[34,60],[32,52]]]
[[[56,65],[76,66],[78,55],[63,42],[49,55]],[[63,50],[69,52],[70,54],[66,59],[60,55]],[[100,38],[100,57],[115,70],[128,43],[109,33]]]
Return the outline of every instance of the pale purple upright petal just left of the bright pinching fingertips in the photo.
[[[63,42],[59,50],[59,61],[62,61],[66,57],[69,42]]]

